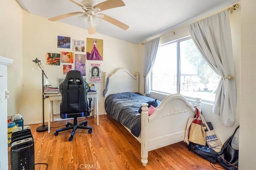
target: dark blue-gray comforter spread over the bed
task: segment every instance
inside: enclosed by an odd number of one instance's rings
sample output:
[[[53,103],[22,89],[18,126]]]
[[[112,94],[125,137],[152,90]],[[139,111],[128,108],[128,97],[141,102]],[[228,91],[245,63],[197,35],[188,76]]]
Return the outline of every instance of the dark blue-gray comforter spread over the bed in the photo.
[[[150,102],[153,98],[143,96],[139,93],[116,93],[110,94],[105,100],[105,110],[108,115],[122,123],[138,137],[141,129],[141,115],[138,110],[142,103]],[[158,106],[160,101],[158,101]]]

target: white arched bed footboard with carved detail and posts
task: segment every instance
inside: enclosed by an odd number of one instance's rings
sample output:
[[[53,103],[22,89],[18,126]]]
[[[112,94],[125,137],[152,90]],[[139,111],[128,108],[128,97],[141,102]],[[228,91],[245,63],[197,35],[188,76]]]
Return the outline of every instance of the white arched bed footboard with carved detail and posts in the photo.
[[[180,94],[167,96],[148,116],[148,104],[142,104],[141,162],[148,163],[148,152],[184,140],[188,118],[194,115],[194,106]],[[200,100],[196,100],[200,106]]]

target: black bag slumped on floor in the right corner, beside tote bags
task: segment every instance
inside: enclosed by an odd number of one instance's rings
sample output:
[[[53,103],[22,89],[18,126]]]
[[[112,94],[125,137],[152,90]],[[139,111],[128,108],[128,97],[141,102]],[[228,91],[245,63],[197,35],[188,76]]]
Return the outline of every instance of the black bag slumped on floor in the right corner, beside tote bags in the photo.
[[[239,126],[236,128],[236,130],[238,128]],[[238,150],[234,149],[231,145],[236,130],[224,143],[220,152],[218,153],[217,161],[228,170],[238,169]]]

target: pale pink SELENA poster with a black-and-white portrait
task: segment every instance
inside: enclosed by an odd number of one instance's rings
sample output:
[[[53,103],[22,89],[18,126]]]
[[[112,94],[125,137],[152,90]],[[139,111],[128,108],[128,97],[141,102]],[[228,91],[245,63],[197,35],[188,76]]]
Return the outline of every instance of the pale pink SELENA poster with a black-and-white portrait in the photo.
[[[89,82],[101,82],[101,71],[99,63],[89,63]]]

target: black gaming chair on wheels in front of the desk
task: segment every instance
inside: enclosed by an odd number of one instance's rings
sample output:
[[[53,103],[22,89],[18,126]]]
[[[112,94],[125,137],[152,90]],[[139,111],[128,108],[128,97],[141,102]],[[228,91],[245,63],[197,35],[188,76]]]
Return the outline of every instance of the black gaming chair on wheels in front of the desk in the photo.
[[[77,124],[77,117],[87,118],[88,115],[90,115],[90,107],[87,99],[89,84],[84,81],[81,72],[78,70],[69,71],[59,88],[62,96],[60,118],[66,119],[74,117],[74,123],[68,122],[65,128],[56,130],[54,135],[57,136],[60,131],[73,129],[71,136],[68,139],[69,141],[72,141],[77,128],[89,129],[88,133],[92,133],[92,127],[87,126],[87,121]]]

